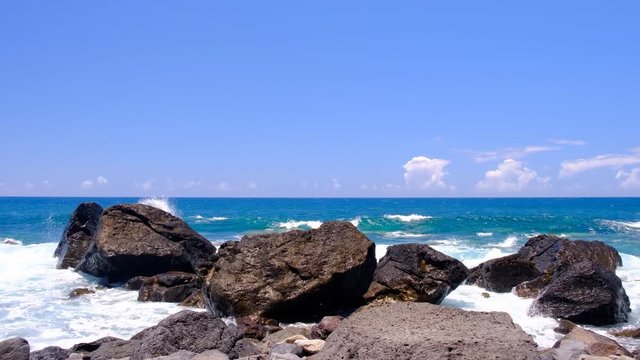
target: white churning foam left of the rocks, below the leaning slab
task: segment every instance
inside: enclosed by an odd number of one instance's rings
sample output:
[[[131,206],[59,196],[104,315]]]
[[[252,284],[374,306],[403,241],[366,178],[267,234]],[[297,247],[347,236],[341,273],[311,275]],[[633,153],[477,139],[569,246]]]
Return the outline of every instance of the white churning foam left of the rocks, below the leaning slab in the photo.
[[[55,243],[0,244],[0,339],[24,337],[32,350],[104,336],[128,339],[183,309],[138,302],[135,291],[99,289],[95,278],[57,270],[55,248]],[[80,287],[95,294],[70,299],[69,292]]]

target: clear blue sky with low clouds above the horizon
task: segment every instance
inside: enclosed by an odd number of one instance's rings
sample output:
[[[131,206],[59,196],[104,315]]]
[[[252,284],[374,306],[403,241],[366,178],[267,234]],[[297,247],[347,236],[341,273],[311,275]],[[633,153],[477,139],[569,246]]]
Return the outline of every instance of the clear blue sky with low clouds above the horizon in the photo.
[[[3,1],[0,195],[638,196],[637,1]]]

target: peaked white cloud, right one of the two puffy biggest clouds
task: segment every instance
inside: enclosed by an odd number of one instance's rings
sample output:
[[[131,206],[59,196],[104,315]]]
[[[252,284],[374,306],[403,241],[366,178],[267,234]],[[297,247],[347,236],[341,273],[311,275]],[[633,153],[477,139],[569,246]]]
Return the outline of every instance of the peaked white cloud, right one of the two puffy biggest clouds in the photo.
[[[520,161],[507,159],[498,165],[495,170],[485,173],[484,179],[476,184],[479,190],[496,192],[516,192],[526,188],[538,174],[522,165]],[[548,178],[540,179],[543,183],[549,181]]]

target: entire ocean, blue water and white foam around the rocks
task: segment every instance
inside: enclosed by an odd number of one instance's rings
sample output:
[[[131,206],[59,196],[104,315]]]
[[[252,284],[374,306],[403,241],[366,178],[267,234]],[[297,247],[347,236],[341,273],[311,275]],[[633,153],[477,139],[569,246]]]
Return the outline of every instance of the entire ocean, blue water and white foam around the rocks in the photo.
[[[386,247],[426,243],[468,267],[516,252],[529,237],[552,233],[601,240],[622,254],[617,271],[631,300],[626,324],[589,327],[602,334],[640,327],[640,198],[473,199],[238,199],[238,198],[19,198],[0,197],[0,339],[21,336],[32,350],[69,347],[103,336],[129,338],[182,310],[175,304],[140,303],[137,292],[103,288],[99,279],[56,270],[53,251],[75,207],[142,202],[184,219],[214,244],[245,234],[316,228],[324,221],[350,221]],[[70,299],[71,290],[95,289]],[[551,318],[529,317],[530,299],[462,285],[443,305],[506,311],[541,347],[559,339]],[[428,324],[425,324],[428,326]],[[639,340],[626,340],[640,348]]]

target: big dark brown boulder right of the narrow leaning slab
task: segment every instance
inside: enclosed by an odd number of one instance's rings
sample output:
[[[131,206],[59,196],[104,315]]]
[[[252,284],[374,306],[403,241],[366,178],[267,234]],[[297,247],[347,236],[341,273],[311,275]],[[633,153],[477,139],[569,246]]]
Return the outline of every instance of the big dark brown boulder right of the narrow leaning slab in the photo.
[[[206,274],[215,247],[181,219],[142,204],[116,205],[102,214],[98,233],[77,269],[110,281],[170,271]]]

